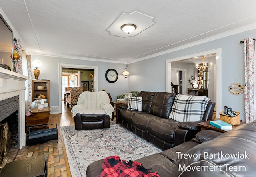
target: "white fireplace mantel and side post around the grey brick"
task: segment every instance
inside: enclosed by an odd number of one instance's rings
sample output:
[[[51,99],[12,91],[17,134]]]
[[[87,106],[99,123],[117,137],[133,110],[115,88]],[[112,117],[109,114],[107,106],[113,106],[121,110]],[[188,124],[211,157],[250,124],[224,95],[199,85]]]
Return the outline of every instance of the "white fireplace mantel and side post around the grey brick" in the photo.
[[[0,67],[0,101],[18,96],[19,101],[19,149],[25,146],[25,81],[27,76]],[[4,102],[4,101],[3,101]]]

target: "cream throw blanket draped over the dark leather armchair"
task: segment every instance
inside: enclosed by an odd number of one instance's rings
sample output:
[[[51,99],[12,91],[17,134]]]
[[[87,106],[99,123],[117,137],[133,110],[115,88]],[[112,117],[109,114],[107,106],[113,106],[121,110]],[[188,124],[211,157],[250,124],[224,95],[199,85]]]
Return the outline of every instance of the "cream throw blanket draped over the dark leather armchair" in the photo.
[[[106,92],[83,92],[79,95],[77,105],[75,105],[71,113],[73,117],[77,113],[80,114],[107,114],[112,117],[114,111],[110,104],[109,96]]]

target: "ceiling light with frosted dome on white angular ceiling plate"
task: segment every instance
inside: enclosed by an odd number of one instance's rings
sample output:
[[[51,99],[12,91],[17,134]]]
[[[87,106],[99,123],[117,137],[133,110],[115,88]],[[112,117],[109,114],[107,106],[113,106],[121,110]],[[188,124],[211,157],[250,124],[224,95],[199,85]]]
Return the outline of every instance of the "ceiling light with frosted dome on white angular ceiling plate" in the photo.
[[[107,29],[110,35],[119,37],[134,37],[138,33],[154,25],[154,17],[134,11],[132,13],[122,13]],[[136,25],[135,25],[136,24]],[[132,28],[134,31],[125,31],[126,28]],[[125,31],[125,33],[124,33]]]

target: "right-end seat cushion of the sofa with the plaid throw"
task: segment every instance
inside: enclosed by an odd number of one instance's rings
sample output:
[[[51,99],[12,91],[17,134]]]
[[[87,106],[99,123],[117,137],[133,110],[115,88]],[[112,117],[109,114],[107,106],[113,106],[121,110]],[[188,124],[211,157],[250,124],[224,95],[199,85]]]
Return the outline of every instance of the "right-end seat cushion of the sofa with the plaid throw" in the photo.
[[[148,124],[148,132],[164,141],[173,142],[177,124],[178,122],[164,118],[152,120]]]

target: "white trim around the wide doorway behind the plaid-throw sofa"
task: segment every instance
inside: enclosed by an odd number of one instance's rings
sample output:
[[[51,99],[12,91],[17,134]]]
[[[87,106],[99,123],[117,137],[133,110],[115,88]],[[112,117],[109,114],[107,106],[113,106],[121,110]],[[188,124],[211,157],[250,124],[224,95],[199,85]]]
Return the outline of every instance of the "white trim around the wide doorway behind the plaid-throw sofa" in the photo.
[[[171,81],[172,81],[172,72],[171,72],[171,68],[172,68],[172,62],[174,61],[181,61],[181,60],[185,60],[185,59],[191,59],[193,57],[198,57],[198,56],[202,56],[202,55],[210,55],[212,53],[216,53],[216,112],[220,112],[221,108],[222,108],[222,101],[221,101],[221,87],[220,87],[220,83],[222,83],[222,78],[221,76],[221,65],[220,65],[220,60],[221,60],[221,48],[217,48],[217,49],[212,49],[212,50],[208,50],[208,51],[202,51],[199,53],[193,53],[190,55],[186,55],[186,56],[182,56],[182,57],[177,57],[177,58],[172,58],[172,59],[166,59],[165,61],[165,71],[166,71],[166,81],[165,81],[165,90],[166,92],[171,92]]]

